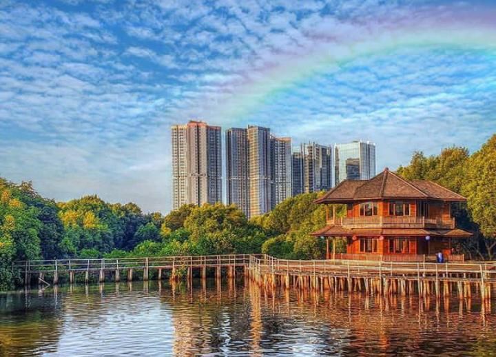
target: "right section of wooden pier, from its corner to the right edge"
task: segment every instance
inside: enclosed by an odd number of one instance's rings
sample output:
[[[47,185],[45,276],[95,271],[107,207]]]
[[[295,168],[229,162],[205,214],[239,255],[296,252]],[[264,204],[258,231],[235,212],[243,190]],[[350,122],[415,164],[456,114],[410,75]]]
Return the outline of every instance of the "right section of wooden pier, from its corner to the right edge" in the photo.
[[[249,274],[269,289],[316,289],[366,294],[451,296],[489,299],[496,287],[496,262],[403,263],[382,261],[291,261],[250,257]]]

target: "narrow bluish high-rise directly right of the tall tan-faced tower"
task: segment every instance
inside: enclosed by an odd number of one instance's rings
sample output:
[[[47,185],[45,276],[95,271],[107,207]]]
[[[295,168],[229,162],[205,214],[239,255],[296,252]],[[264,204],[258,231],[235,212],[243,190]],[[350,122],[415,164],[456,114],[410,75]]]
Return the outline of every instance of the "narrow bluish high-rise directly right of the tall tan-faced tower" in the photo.
[[[272,208],[292,195],[291,138],[271,136]]]

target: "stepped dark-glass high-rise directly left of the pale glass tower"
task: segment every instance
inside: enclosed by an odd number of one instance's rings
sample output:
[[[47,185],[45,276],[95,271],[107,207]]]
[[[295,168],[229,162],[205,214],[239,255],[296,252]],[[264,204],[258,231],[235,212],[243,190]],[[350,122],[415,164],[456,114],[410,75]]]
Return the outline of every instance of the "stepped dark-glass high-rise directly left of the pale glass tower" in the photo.
[[[293,196],[331,189],[331,152],[330,146],[308,143],[293,153]]]

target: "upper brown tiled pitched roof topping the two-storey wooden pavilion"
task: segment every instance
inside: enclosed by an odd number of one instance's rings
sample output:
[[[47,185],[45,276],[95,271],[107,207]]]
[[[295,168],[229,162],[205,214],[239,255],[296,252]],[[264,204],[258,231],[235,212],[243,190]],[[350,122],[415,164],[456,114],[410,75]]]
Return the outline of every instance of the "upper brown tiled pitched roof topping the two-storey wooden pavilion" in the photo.
[[[370,180],[342,181],[316,203],[343,203],[368,199],[433,199],[466,201],[466,198],[431,181],[408,181],[387,168]]]

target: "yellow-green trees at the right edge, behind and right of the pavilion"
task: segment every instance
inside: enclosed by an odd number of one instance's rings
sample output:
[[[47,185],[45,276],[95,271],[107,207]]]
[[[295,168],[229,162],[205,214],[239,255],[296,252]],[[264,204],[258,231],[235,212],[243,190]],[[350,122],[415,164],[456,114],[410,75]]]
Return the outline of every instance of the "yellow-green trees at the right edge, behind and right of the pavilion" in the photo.
[[[495,257],[496,249],[496,134],[481,149],[469,154],[465,147],[448,147],[437,156],[415,152],[410,165],[397,173],[406,179],[431,180],[466,196],[466,205],[454,209],[457,225],[474,233],[460,240],[468,258]]]

